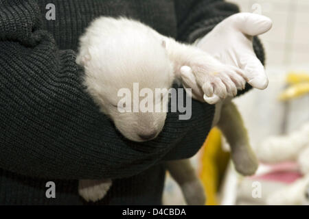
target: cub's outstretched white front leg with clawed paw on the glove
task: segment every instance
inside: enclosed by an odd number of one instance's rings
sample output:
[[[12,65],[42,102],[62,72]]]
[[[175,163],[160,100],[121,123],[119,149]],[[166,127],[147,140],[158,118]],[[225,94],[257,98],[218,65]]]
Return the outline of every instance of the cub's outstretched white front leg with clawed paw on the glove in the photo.
[[[218,103],[220,99],[236,96],[238,90],[244,89],[246,78],[240,68],[222,64],[205,51],[181,44],[172,38],[163,38],[163,46],[174,64],[176,77],[191,77],[181,69],[183,66],[192,69],[198,89],[205,94],[207,103]]]

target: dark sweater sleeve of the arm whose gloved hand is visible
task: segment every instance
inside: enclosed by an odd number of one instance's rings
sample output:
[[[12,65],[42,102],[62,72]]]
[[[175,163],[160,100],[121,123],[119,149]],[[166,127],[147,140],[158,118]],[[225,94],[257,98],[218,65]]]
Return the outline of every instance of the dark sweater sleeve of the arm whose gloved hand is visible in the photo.
[[[240,12],[238,5],[224,0],[175,1],[175,11],[178,23],[177,39],[188,43],[202,38],[225,18]],[[258,37],[253,37],[253,49],[264,64],[264,48]],[[238,92],[238,96],[251,88],[247,83],[246,88]]]

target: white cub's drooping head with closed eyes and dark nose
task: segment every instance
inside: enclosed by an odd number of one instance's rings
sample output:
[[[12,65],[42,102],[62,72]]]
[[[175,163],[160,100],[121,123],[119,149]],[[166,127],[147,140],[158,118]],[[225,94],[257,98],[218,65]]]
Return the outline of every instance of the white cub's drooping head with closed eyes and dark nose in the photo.
[[[129,140],[156,138],[165,123],[174,81],[165,44],[149,37],[131,41],[119,37],[86,51],[77,62],[84,66],[87,91],[102,112]]]

